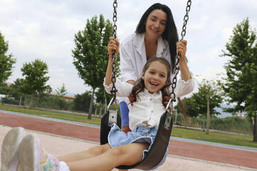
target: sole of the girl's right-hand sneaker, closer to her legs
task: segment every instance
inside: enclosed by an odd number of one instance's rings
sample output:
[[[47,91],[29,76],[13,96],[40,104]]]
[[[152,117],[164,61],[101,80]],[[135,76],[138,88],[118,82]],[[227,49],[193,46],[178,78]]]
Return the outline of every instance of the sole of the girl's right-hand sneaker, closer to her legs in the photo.
[[[18,171],[40,171],[37,137],[35,135],[28,134],[22,139],[18,155]]]

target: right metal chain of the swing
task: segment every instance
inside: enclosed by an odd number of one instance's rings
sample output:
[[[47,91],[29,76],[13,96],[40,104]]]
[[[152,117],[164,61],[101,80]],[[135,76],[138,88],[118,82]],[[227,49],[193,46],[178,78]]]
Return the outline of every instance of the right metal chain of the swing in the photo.
[[[189,21],[189,11],[190,11],[190,8],[191,8],[191,0],[188,0],[187,1],[187,8],[186,8],[187,13],[184,15],[184,23],[183,23],[183,27],[182,27],[180,41],[182,41],[184,39],[184,36],[186,34],[187,21]],[[177,75],[178,75],[178,71],[180,70],[179,69],[180,58],[181,58],[181,54],[179,53],[176,56],[177,61],[175,63],[175,69],[174,69],[175,76],[173,77],[172,83],[171,83],[172,90],[171,90],[170,97],[171,97],[172,101],[175,101],[175,92],[174,92],[174,90],[175,90],[175,87],[177,86]]]

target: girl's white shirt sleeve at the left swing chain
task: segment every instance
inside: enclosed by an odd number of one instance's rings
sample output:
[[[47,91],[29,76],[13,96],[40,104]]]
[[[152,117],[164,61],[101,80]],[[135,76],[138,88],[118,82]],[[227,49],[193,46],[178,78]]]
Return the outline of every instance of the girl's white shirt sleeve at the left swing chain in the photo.
[[[104,88],[108,94],[111,94],[111,89],[113,88],[113,84],[106,85],[104,78]],[[133,85],[130,83],[126,83],[121,81],[120,79],[116,79],[115,88],[117,89],[116,95],[117,97],[128,97],[131,94],[131,90]]]

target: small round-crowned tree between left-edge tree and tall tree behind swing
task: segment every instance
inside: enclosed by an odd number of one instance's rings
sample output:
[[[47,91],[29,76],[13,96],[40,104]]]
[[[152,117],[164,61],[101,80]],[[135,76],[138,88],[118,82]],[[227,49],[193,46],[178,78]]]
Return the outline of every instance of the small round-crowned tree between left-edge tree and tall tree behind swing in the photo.
[[[22,90],[26,94],[31,94],[32,98],[30,100],[30,106],[32,105],[33,97],[35,94],[49,92],[51,90],[50,86],[46,86],[46,82],[49,77],[48,66],[44,61],[35,59],[31,63],[23,63],[21,68],[22,75],[25,76],[25,79],[22,83]]]

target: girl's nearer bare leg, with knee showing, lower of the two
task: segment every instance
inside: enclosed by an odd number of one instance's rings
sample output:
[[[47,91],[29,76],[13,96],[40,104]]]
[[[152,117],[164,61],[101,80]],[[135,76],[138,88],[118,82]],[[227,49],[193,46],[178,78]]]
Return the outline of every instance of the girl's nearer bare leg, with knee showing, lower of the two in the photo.
[[[111,148],[103,154],[88,159],[67,162],[70,171],[110,171],[118,165],[133,165],[142,160],[147,143],[131,143]]]

